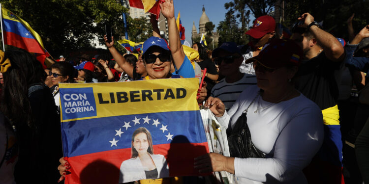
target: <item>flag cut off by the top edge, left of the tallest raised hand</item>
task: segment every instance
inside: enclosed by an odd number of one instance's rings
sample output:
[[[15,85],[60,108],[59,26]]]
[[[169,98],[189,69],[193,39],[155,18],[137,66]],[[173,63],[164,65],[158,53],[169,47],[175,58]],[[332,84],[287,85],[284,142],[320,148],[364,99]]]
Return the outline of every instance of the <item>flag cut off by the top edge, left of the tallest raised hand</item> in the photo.
[[[129,6],[144,9],[145,12],[156,15],[156,20],[159,19],[160,6],[159,3],[163,0],[129,0]]]

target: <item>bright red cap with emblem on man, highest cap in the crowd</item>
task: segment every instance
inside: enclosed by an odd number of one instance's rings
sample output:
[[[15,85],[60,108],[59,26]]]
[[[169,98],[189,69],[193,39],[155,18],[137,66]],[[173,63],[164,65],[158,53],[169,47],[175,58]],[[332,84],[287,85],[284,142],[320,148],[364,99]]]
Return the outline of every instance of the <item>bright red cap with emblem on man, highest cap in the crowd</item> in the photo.
[[[253,38],[259,39],[268,32],[272,32],[275,29],[276,21],[274,20],[274,18],[269,15],[263,15],[255,20],[254,25],[250,30],[246,32],[246,34],[250,35]]]

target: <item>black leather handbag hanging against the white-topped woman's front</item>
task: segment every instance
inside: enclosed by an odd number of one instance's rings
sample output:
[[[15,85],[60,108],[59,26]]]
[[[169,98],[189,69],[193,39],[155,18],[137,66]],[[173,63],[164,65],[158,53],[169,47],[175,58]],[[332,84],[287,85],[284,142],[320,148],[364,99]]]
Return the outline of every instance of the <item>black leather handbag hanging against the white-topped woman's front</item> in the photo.
[[[242,113],[242,115],[237,119],[236,124],[232,128],[231,132],[228,134],[228,146],[229,153],[231,157],[237,158],[265,158],[263,152],[255,148],[251,141],[251,133],[247,126],[247,110],[255,102],[256,98],[260,95],[258,93],[256,97],[252,100],[250,105]]]

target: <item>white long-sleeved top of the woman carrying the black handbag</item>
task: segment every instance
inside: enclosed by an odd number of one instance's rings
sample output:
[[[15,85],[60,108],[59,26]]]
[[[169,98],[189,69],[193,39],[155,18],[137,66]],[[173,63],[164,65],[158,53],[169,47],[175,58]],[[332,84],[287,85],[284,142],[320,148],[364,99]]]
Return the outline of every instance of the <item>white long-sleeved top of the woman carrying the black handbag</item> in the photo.
[[[236,103],[217,120],[233,127],[259,88],[248,86]],[[259,107],[258,107],[259,106]],[[254,113],[259,109],[257,113]],[[304,95],[277,104],[260,96],[247,112],[247,125],[257,149],[267,158],[235,158],[236,180],[240,184],[306,184],[302,170],[317,153],[324,138],[319,107]]]

